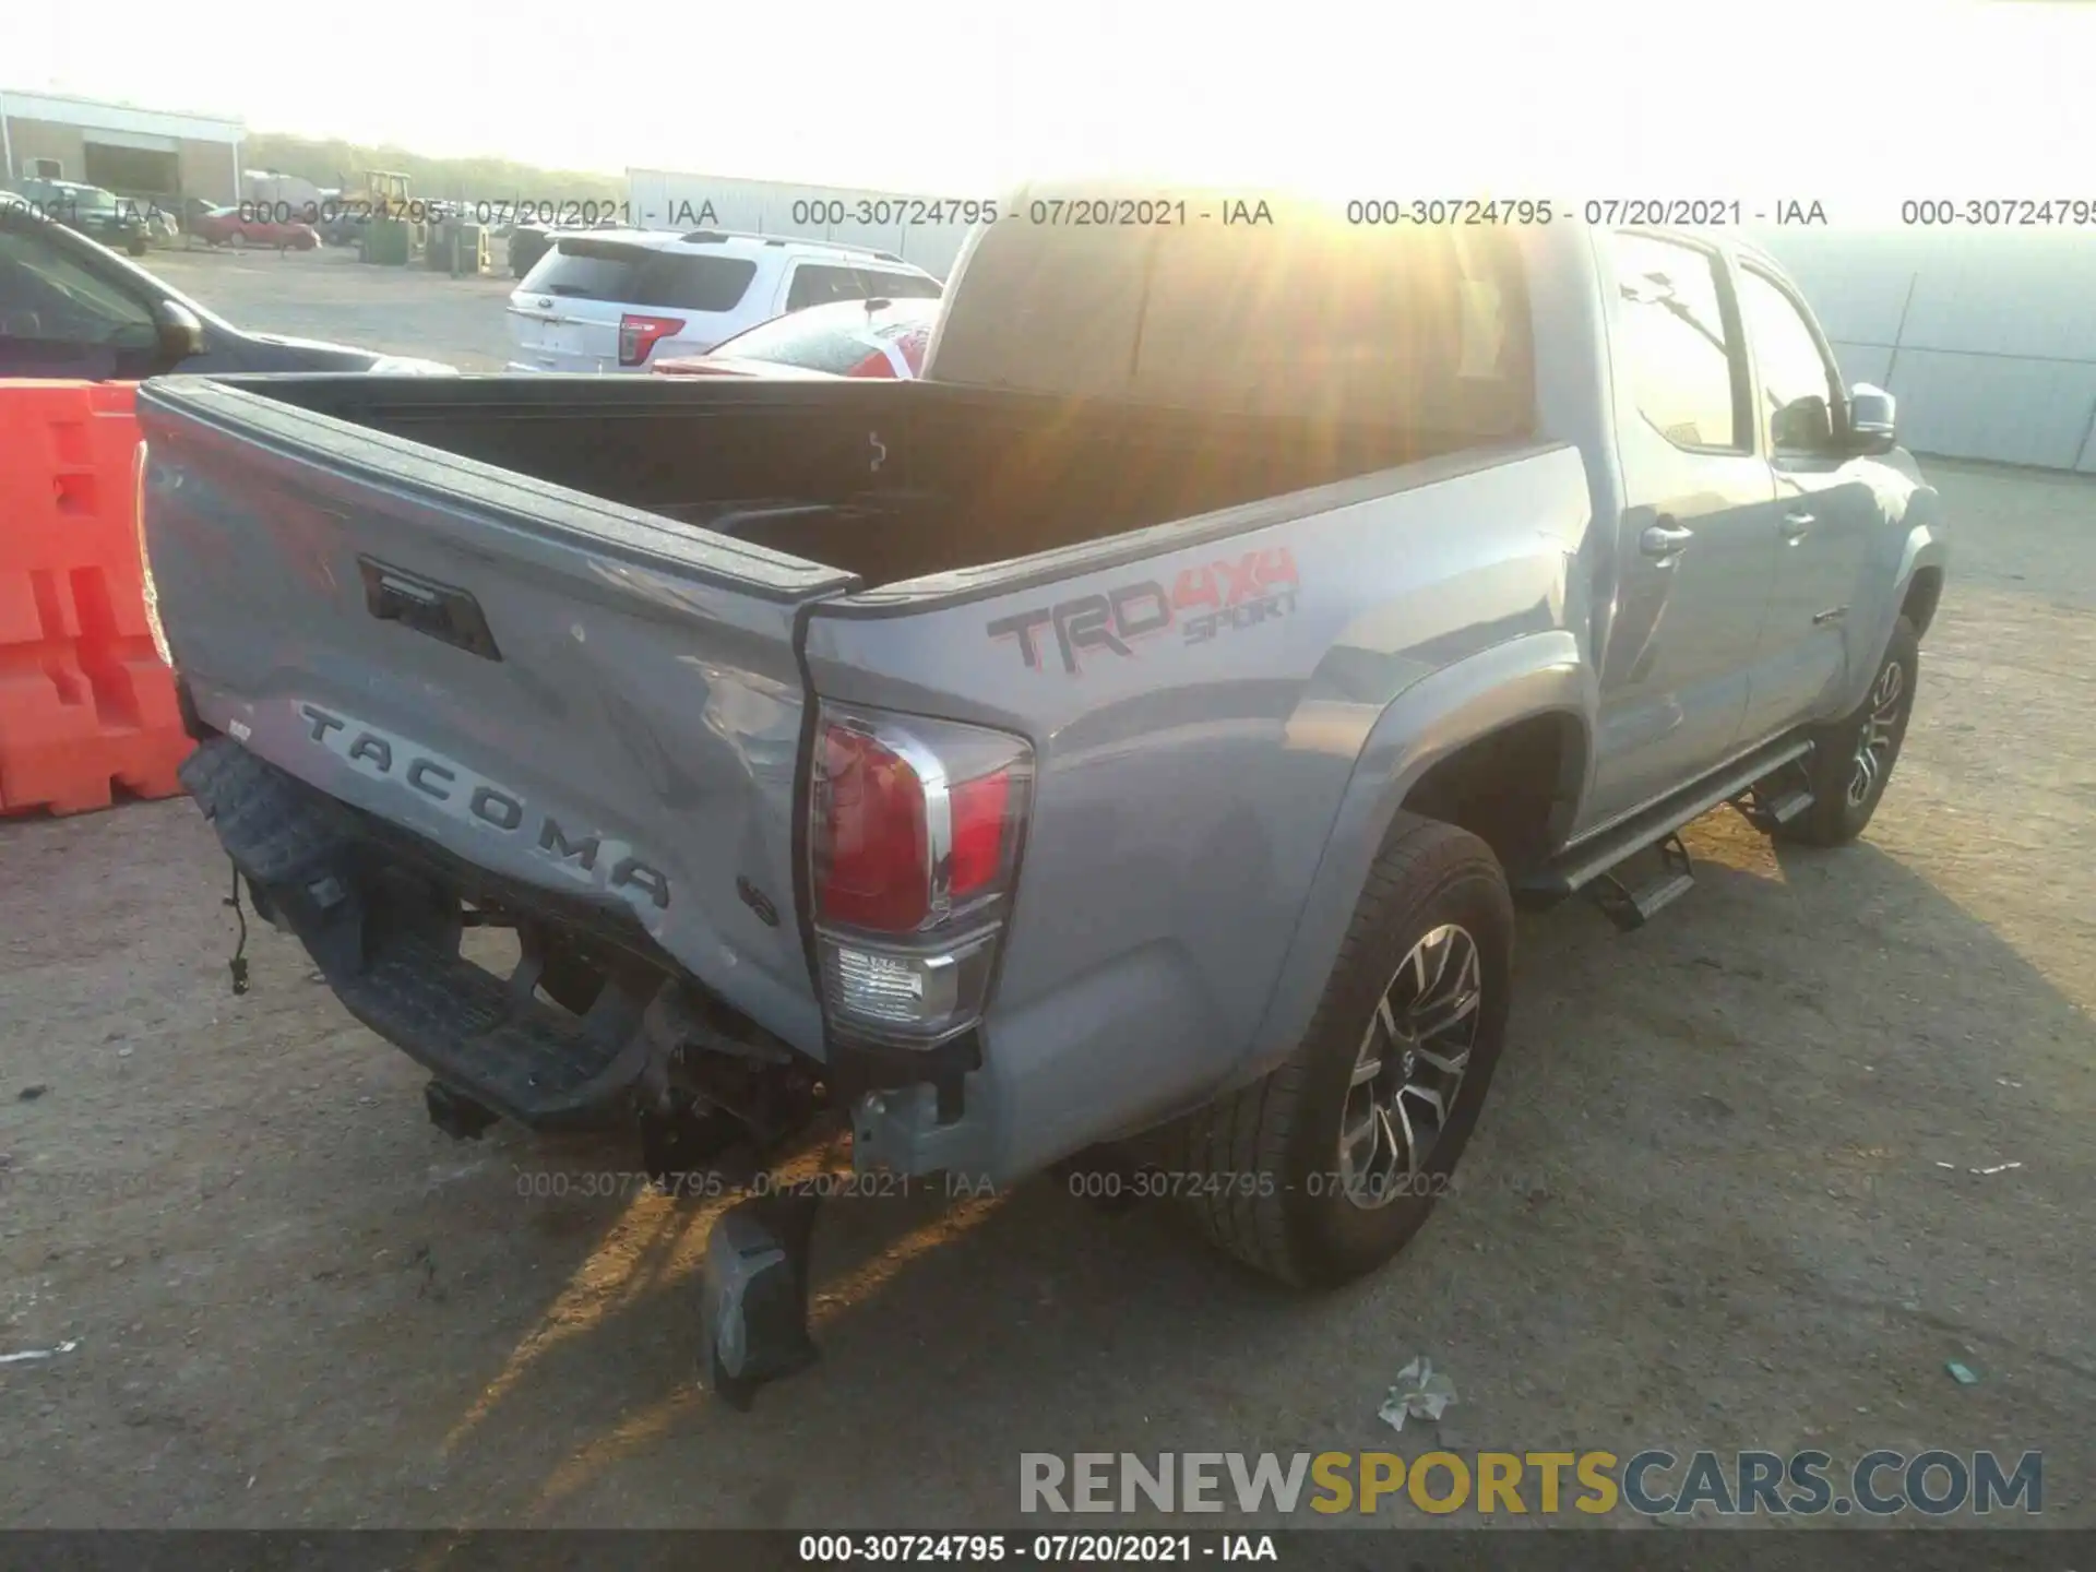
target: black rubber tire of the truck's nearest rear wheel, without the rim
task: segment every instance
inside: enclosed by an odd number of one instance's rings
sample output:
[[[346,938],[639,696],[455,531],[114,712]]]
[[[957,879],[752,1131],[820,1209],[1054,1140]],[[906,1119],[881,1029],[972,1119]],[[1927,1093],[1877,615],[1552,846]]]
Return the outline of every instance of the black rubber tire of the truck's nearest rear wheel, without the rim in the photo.
[[[1476,945],[1469,1061],[1417,1174],[1383,1205],[1356,1205],[1335,1180],[1339,1130],[1362,1033],[1413,947],[1442,924]],[[1499,1065],[1513,962],[1513,903],[1490,847],[1448,824],[1400,813],[1369,870],[1310,1031],[1266,1077],[1182,1119],[1165,1161],[1193,1191],[1222,1249],[1297,1287],[1373,1272],[1425,1224],[1446,1191]],[[1406,1056],[1411,1063],[1411,1056]]]

